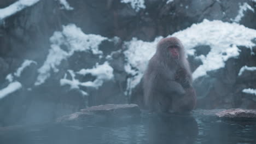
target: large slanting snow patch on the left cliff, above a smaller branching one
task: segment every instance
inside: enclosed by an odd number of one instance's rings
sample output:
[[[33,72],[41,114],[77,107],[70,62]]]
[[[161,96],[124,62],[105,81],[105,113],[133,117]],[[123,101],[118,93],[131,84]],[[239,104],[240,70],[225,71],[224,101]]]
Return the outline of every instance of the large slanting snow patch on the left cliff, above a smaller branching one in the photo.
[[[57,73],[57,66],[61,64],[63,59],[71,57],[75,51],[91,51],[94,55],[101,55],[102,51],[98,50],[98,45],[107,38],[101,35],[85,34],[80,28],[74,24],[63,26],[62,32],[54,32],[50,38],[51,49],[42,65],[38,69],[37,81],[34,85],[38,86],[45,82],[50,77],[51,70]],[[67,50],[61,46],[66,46]]]

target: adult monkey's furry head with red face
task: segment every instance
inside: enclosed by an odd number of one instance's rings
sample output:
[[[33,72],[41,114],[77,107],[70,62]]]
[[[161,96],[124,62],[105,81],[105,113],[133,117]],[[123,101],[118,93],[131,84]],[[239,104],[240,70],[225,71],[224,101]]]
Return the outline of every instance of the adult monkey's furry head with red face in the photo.
[[[156,53],[161,57],[179,60],[184,57],[184,48],[178,38],[164,38],[159,41]]]

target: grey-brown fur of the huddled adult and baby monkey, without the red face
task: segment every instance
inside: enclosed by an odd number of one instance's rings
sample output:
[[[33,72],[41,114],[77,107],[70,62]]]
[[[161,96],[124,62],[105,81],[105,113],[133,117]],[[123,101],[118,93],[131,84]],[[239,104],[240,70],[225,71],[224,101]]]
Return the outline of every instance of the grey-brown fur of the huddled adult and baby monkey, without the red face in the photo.
[[[168,47],[177,46],[179,59],[174,59]],[[189,112],[194,109],[196,94],[192,76],[178,38],[164,38],[157,45],[143,76],[144,104],[155,112]]]

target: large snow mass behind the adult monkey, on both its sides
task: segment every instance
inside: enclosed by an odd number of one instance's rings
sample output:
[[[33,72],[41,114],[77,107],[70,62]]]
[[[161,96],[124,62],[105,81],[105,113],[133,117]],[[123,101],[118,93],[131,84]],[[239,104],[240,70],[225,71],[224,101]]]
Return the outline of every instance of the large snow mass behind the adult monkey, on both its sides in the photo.
[[[252,50],[255,44],[251,40],[256,38],[256,30],[238,23],[203,20],[201,23],[193,24],[191,27],[168,37],[171,36],[181,39],[188,55],[194,55],[195,49],[193,48],[196,46],[208,45],[211,47],[206,56],[196,57],[201,59],[203,63],[193,73],[193,79],[197,79],[206,75],[207,71],[223,68],[225,61],[229,58],[237,57],[239,55],[237,46],[245,46]],[[141,80],[148,60],[154,55],[156,44],[161,38],[158,37],[152,42],[137,39],[126,42],[127,50],[124,54],[127,63],[125,70],[133,75],[129,80],[129,88],[135,87]],[[129,86],[129,83],[127,86]]]

